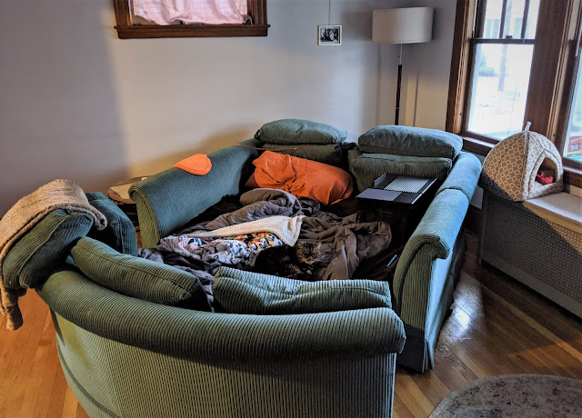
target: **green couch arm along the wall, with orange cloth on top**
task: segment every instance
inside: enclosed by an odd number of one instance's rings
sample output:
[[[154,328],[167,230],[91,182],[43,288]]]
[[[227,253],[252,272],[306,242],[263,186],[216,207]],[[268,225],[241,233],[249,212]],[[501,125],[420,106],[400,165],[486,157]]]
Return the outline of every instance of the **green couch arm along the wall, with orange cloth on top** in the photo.
[[[241,144],[259,146],[251,139]],[[160,238],[186,224],[227,194],[237,194],[251,174],[258,151],[229,146],[208,154],[212,169],[206,175],[169,168],[137,182],[129,194],[137,206],[142,244],[155,247]]]

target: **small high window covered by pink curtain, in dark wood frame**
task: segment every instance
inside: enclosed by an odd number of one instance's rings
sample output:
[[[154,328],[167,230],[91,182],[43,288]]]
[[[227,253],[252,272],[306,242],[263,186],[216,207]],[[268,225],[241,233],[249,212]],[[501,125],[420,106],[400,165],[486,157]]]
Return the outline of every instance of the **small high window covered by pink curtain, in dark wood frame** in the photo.
[[[113,0],[121,39],[266,36],[266,0]]]

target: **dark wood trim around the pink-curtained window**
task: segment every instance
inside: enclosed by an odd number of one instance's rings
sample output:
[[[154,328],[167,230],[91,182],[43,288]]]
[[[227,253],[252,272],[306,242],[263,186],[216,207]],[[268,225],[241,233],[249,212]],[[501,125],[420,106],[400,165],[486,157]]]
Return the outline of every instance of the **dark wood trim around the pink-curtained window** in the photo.
[[[132,25],[129,0],[113,0],[119,39],[266,36],[266,0],[247,0],[251,25]]]

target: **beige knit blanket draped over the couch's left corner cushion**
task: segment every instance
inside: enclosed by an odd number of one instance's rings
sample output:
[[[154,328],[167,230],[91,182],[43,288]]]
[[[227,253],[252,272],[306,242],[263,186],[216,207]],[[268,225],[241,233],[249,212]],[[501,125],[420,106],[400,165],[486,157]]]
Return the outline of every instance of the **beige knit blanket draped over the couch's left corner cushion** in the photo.
[[[24,234],[55,209],[90,214],[99,230],[107,226],[105,215],[89,204],[81,187],[69,180],[55,180],[45,184],[20,199],[6,212],[0,219],[0,312],[7,315],[6,328],[9,330],[16,330],[22,325],[18,298],[26,293],[26,289],[5,288],[2,276],[5,256]]]

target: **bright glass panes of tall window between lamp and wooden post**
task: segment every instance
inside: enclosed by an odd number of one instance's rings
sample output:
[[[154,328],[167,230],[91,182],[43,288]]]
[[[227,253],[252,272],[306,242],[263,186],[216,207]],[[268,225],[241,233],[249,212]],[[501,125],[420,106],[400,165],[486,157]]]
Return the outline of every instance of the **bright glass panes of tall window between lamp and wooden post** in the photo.
[[[539,0],[479,7],[467,130],[504,139],[524,127]]]

